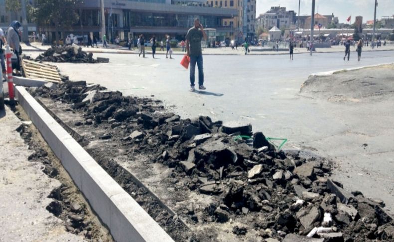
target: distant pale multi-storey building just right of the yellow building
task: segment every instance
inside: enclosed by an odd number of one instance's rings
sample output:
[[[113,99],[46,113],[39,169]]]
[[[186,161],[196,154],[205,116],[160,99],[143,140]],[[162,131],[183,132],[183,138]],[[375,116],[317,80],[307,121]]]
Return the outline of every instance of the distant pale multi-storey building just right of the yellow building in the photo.
[[[274,26],[279,29],[293,28],[297,20],[296,15],[293,10],[286,11],[286,7],[271,7],[271,10],[260,14],[256,19],[257,27],[261,26],[265,31]]]

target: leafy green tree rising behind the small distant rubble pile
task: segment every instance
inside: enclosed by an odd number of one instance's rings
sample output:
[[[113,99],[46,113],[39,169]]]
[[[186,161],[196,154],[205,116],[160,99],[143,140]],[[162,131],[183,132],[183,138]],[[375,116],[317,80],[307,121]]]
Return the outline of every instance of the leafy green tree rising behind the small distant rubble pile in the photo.
[[[40,26],[54,26],[56,44],[59,43],[59,28],[71,29],[77,23],[79,14],[75,11],[81,0],[36,0],[30,9],[31,16]]]

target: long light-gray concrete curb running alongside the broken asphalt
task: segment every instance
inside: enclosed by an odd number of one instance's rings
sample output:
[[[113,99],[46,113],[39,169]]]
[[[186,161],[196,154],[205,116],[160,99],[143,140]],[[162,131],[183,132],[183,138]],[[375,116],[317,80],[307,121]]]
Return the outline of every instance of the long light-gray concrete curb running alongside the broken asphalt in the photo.
[[[24,87],[16,86],[15,95],[116,241],[173,241]]]

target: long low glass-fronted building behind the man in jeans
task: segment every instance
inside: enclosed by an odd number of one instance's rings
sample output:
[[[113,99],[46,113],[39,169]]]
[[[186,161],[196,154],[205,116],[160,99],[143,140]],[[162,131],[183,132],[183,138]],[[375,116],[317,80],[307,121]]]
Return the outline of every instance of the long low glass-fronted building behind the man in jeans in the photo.
[[[4,2],[0,0],[0,14],[5,9],[1,7],[5,6]],[[79,21],[71,29],[59,29],[60,38],[65,39],[67,34],[73,33],[90,34],[100,39],[101,1],[84,0],[76,10],[80,15]],[[126,40],[139,34],[146,38],[156,35],[158,39],[168,34],[172,39],[182,40],[195,18],[199,18],[205,28],[214,28],[217,35],[222,36],[230,32],[230,28],[223,25],[223,19],[236,17],[238,12],[236,9],[211,7],[205,0],[104,0],[104,15],[107,39],[113,42],[116,36]],[[19,15],[16,17],[21,20]],[[2,19],[4,25],[9,26],[14,17],[0,15]],[[34,30],[47,33],[50,42],[56,37],[54,26],[37,26]]]

